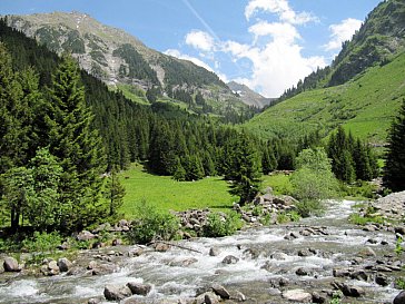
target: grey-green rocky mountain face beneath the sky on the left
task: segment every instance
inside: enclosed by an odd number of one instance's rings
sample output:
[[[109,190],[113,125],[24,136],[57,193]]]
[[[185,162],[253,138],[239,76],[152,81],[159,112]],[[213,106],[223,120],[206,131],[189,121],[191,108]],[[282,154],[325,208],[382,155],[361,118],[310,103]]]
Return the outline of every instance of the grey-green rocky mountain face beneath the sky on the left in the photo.
[[[70,52],[85,70],[109,86],[159,88],[168,96],[176,89],[200,91],[206,99],[227,107],[240,108],[246,100],[237,97],[214,72],[152,50],[131,35],[86,13],[8,16],[8,24],[58,53]]]

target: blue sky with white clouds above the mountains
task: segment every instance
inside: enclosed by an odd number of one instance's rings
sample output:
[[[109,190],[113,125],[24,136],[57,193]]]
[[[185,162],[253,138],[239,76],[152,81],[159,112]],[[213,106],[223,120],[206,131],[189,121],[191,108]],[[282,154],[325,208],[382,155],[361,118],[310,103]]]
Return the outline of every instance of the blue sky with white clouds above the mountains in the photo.
[[[80,11],[267,97],[330,63],[379,0],[0,0],[0,14]]]

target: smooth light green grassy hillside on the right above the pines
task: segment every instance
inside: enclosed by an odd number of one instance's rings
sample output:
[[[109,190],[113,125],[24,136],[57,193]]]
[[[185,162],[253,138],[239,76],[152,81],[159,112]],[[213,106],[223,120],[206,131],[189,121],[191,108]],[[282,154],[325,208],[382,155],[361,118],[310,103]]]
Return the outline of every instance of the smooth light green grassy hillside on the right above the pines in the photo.
[[[315,130],[324,135],[344,125],[355,136],[384,144],[387,128],[405,98],[405,53],[350,81],[302,92],[268,108],[245,126],[264,138],[298,139]]]

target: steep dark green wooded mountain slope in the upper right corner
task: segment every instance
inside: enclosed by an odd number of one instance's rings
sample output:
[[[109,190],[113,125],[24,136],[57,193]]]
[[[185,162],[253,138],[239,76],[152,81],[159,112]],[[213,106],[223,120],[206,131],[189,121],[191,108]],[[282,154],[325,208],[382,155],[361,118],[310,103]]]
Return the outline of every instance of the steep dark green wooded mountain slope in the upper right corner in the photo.
[[[386,63],[405,50],[405,1],[382,1],[329,67],[318,69],[280,97],[285,100],[314,88],[343,85],[367,68]]]

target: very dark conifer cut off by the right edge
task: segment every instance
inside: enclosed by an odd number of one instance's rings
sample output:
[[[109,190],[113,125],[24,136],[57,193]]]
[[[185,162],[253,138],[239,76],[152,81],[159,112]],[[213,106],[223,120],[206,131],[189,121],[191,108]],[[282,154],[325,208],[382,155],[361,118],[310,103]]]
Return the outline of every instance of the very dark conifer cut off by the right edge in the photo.
[[[384,184],[393,192],[405,190],[405,99],[389,129]]]

